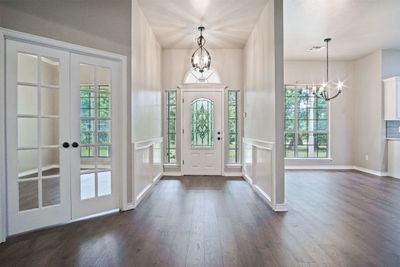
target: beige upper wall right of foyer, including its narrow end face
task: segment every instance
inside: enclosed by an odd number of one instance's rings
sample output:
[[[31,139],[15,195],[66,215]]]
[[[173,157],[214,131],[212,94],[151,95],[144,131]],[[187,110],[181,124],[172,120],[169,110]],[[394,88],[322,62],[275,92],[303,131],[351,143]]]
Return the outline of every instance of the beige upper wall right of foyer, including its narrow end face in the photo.
[[[267,3],[243,52],[244,137],[275,143],[277,203],[284,203],[282,5]]]

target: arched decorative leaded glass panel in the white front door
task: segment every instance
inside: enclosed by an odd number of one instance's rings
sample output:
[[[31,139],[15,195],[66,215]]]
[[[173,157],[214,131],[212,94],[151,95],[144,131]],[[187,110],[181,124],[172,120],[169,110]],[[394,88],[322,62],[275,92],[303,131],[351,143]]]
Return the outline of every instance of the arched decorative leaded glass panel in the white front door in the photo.
[[[214,103],[205,98],[192,102],[192,147],[214,146]]]

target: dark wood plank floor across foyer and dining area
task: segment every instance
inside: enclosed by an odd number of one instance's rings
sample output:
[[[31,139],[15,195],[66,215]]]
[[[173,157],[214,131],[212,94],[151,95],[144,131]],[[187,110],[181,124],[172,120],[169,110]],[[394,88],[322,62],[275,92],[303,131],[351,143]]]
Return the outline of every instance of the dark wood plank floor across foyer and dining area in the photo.
[[[1,266],[400,266],[400,181],[287,172],[288,213],[239,178],[164,178],[134,211],[10,238]]]

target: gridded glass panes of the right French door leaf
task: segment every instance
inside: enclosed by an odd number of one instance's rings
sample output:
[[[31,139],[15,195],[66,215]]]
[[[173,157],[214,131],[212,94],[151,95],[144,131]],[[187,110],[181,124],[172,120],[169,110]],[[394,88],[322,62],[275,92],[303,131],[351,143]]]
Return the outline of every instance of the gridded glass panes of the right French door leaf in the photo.
[[[80,199],[111,195],[111,69],[80,64]]]

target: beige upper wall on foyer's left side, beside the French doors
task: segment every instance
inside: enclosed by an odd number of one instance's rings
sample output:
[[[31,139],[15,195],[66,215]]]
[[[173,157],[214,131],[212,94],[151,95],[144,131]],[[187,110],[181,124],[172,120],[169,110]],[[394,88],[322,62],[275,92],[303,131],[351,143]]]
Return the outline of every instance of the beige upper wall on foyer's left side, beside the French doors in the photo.
[[[162,136],[161,47],[136,0],[132,2],[132,142]],[[134,146],[132,146],[134,148]],[[134,152],[133,152],[134,154]],[[139,163],[138,158],[134,161]],[[145,168],[136,164],[137,168]],[[134,170],[133,173],[138,173]],[[133,192],[141,192],[147,181],[134,175]],[[129,181],[128,188],[132,188]],[[128,193],[128,202],[134,198]]]

